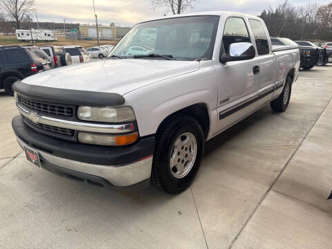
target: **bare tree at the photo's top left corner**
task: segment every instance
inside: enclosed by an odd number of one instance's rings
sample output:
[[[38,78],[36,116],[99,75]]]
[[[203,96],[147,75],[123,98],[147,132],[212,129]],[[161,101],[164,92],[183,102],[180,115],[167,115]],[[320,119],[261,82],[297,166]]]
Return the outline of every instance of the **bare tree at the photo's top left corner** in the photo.
[[[21,21],[26,21],[33,12],[34,0],[0,0],[1,16],[6,21],[14,21],[16,28],[20,28]]]

